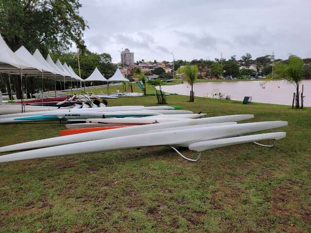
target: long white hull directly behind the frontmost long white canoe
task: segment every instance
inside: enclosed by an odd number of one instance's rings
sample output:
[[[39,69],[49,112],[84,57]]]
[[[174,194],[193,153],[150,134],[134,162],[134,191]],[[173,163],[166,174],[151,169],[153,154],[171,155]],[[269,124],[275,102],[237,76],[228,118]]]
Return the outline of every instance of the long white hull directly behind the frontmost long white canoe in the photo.
[[[248,114],[230,115],[230,116],[214,116],[214,117],[207,117],[207,118],[201,118],[201,119],[185,119],[181,121],[166,122],[166,123],[160,123],[160,124],[138,125],[138,126],[113,129],[113,130],[80,133],[80,134],[75,134],[75,135],[53,137],[53,138],[36,140],[32,142],[24,142],[24,143],[19,143],[15,145],[0,147],[0,152],[52,147],[52,146],[57,146],[57,145],[64,145],[64,144],[83,142],[83,141],[91,141],[91,140],[97,140],[97,139],[103,139],[103,138],[112,138],[112,137],[148,133],[154,130],[168,129],[168,128],[174,128],[174,127],[214,124],[214,123],[222,123],[222,122],[230,122],[230,121],[241,121],[241,120],[251,119],[253,117],[254,115],[248,115]],[[75,124],[72,124],[72,126],[74,125]],[[99,126],[103,126],[103,124],[97,125],[97,127]],[[68,125],[66,125],[66,127],[68,127]],[[86,127],[84,126],[81,128],[86,128]]]

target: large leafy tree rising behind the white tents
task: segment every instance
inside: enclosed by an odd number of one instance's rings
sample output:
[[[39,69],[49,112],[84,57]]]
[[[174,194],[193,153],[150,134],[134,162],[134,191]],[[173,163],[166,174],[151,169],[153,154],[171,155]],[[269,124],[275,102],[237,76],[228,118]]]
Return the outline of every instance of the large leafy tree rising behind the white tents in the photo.
[[[85,49],[87,25],[79,16],[81,6],[79,0],[1,0],[1,35],[13,51],[25,46],[46,56],[49,51],[68,50],[72,42]],[[21,98],[19,77],[15,85],[17,98]]]

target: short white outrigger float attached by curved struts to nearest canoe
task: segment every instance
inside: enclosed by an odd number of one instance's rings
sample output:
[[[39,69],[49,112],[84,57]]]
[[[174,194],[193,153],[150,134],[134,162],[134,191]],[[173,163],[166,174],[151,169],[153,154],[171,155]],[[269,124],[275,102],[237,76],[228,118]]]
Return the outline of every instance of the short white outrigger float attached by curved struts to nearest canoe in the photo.
[[[241,136],[241,137],[230,137],[230,138],[223,138],[223,139],[193,143],[189,145],[189,150],[195,150],[195,151],[200,152],[204,150],[233,146],[233,145],[238,145],[242,143],[257,142],[257,141],[263,141],[263,140],[279,140],[284,137],[286,137],[285,132],[261,133],[261,134]]]

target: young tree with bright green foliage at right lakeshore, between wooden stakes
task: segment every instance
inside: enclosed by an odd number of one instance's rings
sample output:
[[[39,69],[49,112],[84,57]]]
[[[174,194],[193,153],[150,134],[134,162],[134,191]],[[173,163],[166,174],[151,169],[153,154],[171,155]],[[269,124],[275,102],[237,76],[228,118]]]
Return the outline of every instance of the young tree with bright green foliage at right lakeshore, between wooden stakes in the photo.
[[[299,85],[303,79],[303,61],[301,58],[290,55],[288,64],[284,62],[278,62],[275,64],[276,77],[283,79],[287,83],[291,83],[296,88],[296,106],[299,108]]]

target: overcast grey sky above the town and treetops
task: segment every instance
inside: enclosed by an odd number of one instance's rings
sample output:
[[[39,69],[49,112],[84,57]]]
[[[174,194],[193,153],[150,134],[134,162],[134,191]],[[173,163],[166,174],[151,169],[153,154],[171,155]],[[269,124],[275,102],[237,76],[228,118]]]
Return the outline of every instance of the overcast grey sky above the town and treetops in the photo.
[[[311,0],[81,0],[89,50],[135,61],[311,57]]]

